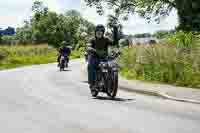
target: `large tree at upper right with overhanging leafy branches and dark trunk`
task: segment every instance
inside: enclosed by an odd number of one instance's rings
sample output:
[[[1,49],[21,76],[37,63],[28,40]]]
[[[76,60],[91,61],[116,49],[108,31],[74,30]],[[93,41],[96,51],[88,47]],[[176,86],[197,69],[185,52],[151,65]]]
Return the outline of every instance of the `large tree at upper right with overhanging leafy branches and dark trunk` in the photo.
[[[88,6],[96,6],[97,12],[103,13],[102,3],[106,3],[115,14],[127,18],[131,13],[138,13],[148,22],[169,15],[175,9],[179,17],[177,29],[200,31],[200,0],[85,0]]]

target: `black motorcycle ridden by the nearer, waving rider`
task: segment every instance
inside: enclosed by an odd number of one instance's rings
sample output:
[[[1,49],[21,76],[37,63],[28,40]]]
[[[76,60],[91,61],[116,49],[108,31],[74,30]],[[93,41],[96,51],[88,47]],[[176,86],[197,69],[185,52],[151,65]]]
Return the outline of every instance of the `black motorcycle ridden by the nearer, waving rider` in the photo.
[[[114,98],[118,90],[118,64],[116,58],[119,52],[112,52],[112,55],[105,59],[99,59],[97,66],[97,77],[95,85],[91,88],[91,94],[96,97],[99,92],[106,93]]]

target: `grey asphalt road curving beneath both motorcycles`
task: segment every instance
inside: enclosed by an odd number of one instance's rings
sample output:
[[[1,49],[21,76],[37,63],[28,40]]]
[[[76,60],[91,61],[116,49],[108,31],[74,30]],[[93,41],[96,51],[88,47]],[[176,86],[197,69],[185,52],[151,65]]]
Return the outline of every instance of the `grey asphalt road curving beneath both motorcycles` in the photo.
[[[124,91],[92,98],[80,67],[0,71],[0,132],[199,133],[199,105]]]

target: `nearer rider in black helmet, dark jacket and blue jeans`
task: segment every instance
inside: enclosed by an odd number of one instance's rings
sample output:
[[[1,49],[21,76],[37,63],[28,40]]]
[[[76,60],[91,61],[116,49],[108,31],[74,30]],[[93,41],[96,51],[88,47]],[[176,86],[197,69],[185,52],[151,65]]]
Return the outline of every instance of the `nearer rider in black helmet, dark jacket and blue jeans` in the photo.
[[[96,68],[99,63],[99,59],[105,59],[108,55],[108,46],[115,45],[111,40],[104,37],[105,27],[103,25],[97,25],[95,29],[95,38],[91,39],[88,43],[88,83],[90,88],[93,89],[96,80]],[[95,54],[89,54],[89,53]]]

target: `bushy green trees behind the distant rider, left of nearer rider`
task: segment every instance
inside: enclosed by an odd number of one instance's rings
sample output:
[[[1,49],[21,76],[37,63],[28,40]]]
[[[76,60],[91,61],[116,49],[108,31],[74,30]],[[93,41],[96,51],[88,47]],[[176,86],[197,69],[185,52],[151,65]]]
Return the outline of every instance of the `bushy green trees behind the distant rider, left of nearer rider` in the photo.
[[[32,17],[17,28],[17,39],[21,43],[48,43],[59,47],[62,41],[67,41],[73,48],[81,38],[81,26],[85,27],[87,36],[91,35],[93,24],[83,19],[76,10],[68,10],[58,14],[48,10],[41,1],[35,1],[32,6]]]

